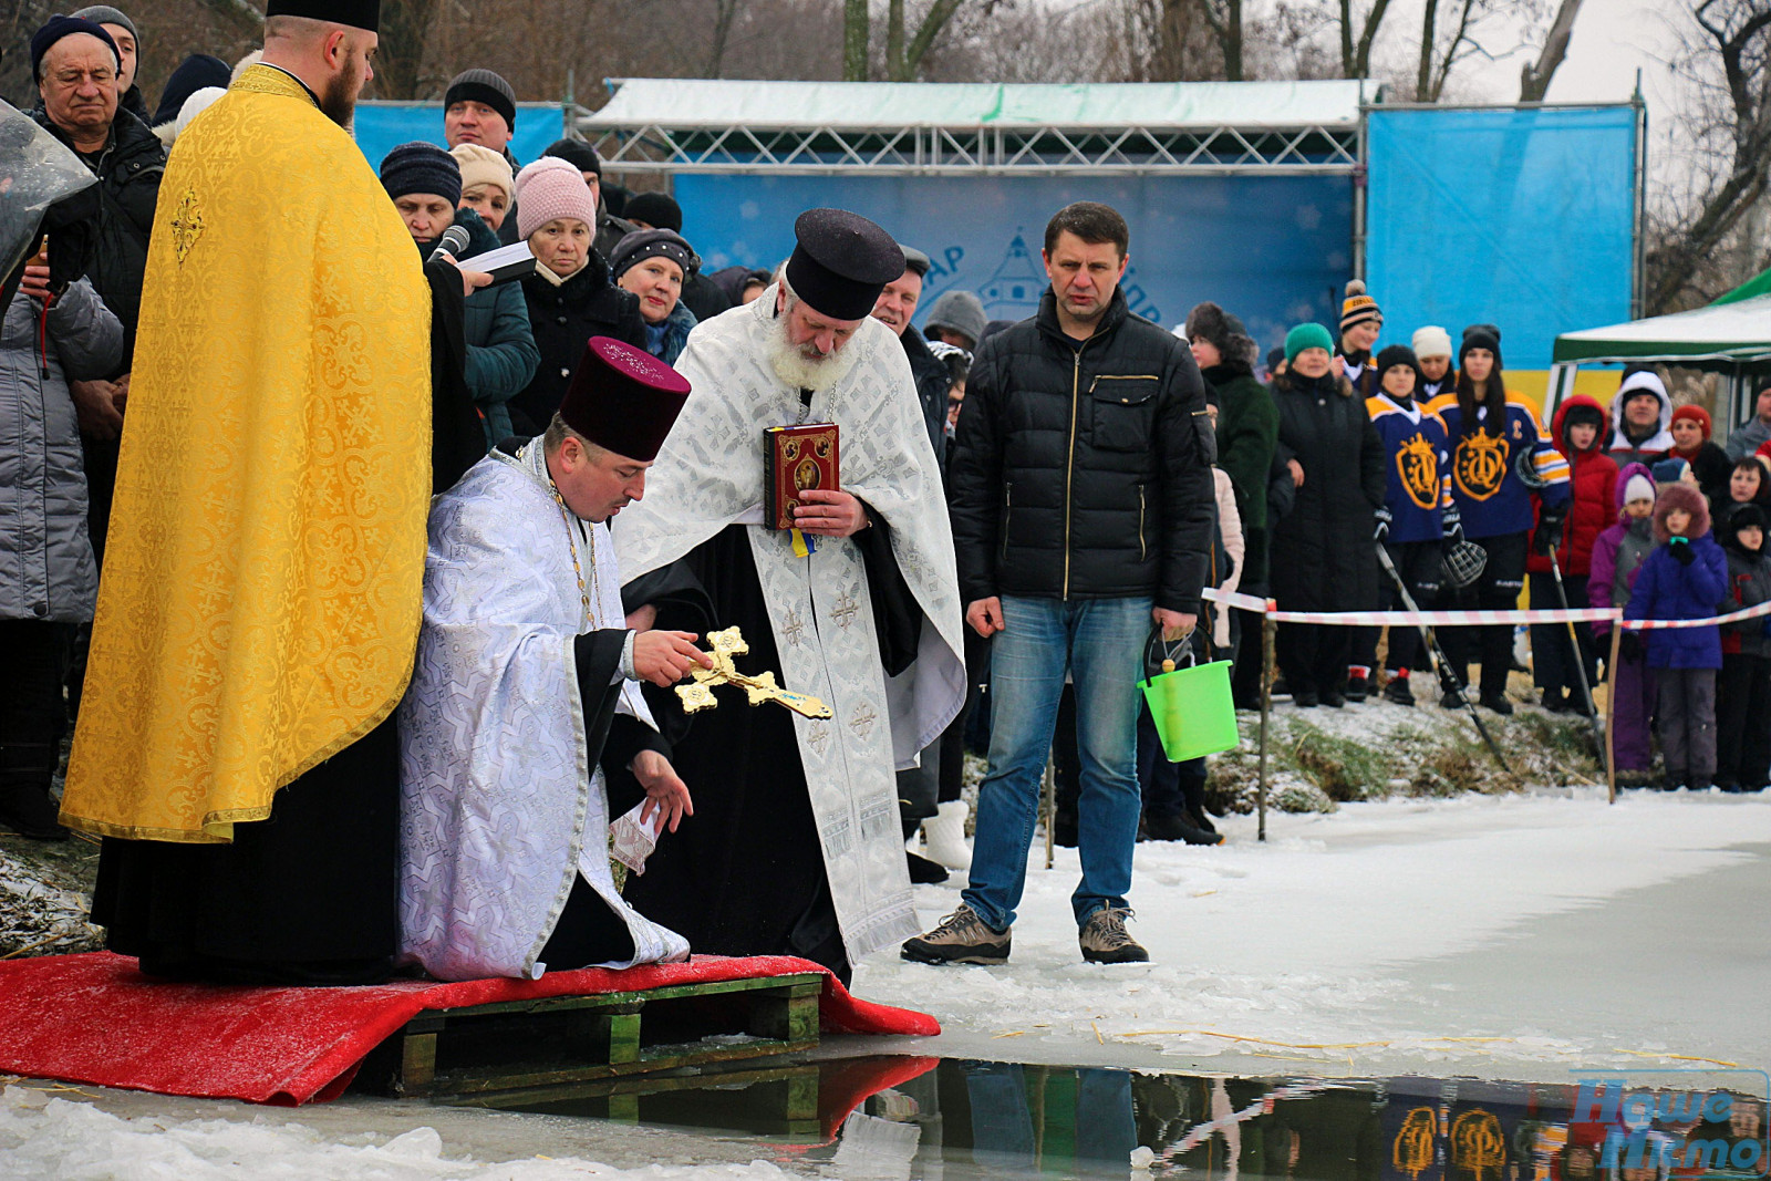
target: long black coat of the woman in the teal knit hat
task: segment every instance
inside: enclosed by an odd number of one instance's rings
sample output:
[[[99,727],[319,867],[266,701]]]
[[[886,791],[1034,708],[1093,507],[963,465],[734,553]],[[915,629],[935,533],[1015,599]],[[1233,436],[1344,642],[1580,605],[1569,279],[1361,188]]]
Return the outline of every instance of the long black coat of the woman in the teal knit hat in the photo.
[[[1334,372],[1273,379],[1279,457],[1303,467],[1289,513],[1272,526],[1268,581],[1286,611],[1378,606],[1373,513],[1383,505],[1383,439],[1365,400]]]

